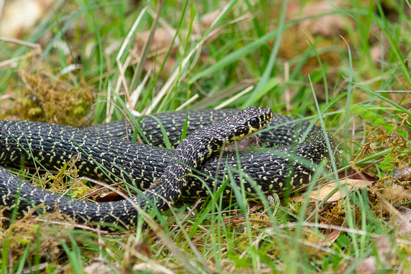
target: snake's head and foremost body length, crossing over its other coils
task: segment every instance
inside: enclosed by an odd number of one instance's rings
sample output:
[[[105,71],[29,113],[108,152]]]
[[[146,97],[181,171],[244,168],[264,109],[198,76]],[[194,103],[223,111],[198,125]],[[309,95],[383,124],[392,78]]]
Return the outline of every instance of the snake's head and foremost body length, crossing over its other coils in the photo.
[[[168,166],[160,177],[160,182],[153,188],[145,190],[142,195],[136,195],[130,200],[105,203],[76,201],[47,192],[47,190],[33,188],[27,182],[18,182],[16,177],[5,173],[3,169],[0,171],[0,197],[3,205],[17,207],[19,211],[27,211],[33,203],[36,206],[42,204],[46,211],[58,210],[79,223],[123,225],[130,228],[137,224],[138,210],[147,210],[152,203],[158,210],[164,210],[166,206],[173,205],[188,185],[188,175],[192,173],[192,169],[197,169],[203,160],[209,158],[215,151],[262,129],[269,124],[272,118],[273,111],[270,108],[250,107],[212,125],[197,129],[177,145]],[[40,147],[48,145],[51,149],[52,145],[47,142],[47,137],[52,136],[53,133],[49,132],[49,136],[45,133],[40,134],[44,139],[38,145]],[[84,142],[90,142],[90,138],[84,138]],[[5,143],[8,143],[8,138],[5,139]],[[31,149],[35,145],[33,142]],[[88,143],[88,146],[90,145]],[[139,148],[134,151],[135,153],[149,153],[150,147],[138,145]],[[54,149],[55,145],[51,151]],[[9,152],[12,153],[11,158],[13,158],[14,153]],[[64,151],[62,152],[64,155]],[[57,155],[53,155],[54,159],[56,157]],[[16,202],[15,197],[18,195],[20,199]]]

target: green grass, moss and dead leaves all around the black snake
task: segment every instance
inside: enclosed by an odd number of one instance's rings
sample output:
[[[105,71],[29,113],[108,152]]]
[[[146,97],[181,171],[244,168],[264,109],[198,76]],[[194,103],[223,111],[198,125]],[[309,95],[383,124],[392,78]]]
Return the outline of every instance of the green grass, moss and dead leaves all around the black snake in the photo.
[[[127,233],[4,216],[1,273],[410,269],[408,0],[58,1],[45,14],[0,38],[1,119],[84,126],[264,105],[331,132],[340,165],[316,176],[336,180],[329,192],[214,195]],[[40,178],[18,172],[73,198],[92,191],[70,163]]]

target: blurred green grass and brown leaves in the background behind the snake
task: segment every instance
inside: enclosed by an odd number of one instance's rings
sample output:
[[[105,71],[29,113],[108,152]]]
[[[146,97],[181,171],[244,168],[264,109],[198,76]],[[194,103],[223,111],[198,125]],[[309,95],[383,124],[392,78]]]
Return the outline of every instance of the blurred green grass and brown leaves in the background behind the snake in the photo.
[[[310,81],[329,103],[349,77],[351,100],[366,101],[362,87],[410,86],[409,11],[404,1],[1,1],[0,115],[88,125],[126,109],[268,105],[306,116]]]

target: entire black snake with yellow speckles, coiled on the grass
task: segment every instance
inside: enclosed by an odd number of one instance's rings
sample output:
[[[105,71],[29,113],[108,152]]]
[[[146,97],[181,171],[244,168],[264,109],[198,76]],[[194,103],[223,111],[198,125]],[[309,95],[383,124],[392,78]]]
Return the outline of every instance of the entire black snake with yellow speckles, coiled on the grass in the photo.
[[[256,112],[265,108],[246,110]],[[325,159],[333,158],[338,163],[336,143],[330,134],[321,127],[310,127],[306,121],[297,123],[295,118],[273,114],[271,110],[257,118],[258,127],[269,122],[267,117],[272,119],[269,129],[260,131],[258,136],[266,144],[280,147],[214,153],[233,142],[221,134],[221,129],[232,125],[223,118],[227,115],[242,124],[247,121],[238,118],[245,115],[238,110],[164,112],[142,117],[138,119],[139,127],[150,145],[126,140],[134,129],[126,126],[125,121],[86,129],[31,121],[0,121],[2,165],[18,165],[25,158],[25,166],[40,164],[46,169],[56,169],[75,158],[80,174],[113,181],[121,179],[145,189],[131,202],[75,201],[32,186],[0,166],[0,205],[23,213],[42,205],[46,211],[59,210],[79,223],[110,223],[129,228],[136,225],[138,208],[148,208],[153,201],[157,208],[164,210],[180,197],[206,197],[221,187],[225,188],[223,195],[229,195],[233,186],[221,183],[229,177],[243,184],[247,192],[256,192],[258,188],[269,195],[310,183],[317,164]],[[249,122],[245,124],[248,132],[236,132],[234,136],[242,138],[258,128],[250,129]],[[162,127],[175,150],[164,148]],[[188,137],[180,142],[184,130]],[[326,145],[327,140],[332,151]],[[192,174],[195,176],[190,176]],[[248,179],[242,179],[244,177]]]

